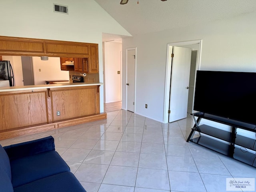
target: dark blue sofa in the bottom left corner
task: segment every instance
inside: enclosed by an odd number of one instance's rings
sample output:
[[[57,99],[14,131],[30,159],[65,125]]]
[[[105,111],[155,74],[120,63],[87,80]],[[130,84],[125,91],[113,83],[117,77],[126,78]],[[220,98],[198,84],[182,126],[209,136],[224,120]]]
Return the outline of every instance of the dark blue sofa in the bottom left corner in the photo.
[[[0,192],[86,192],[55,151],[52,136],[0,145]]]

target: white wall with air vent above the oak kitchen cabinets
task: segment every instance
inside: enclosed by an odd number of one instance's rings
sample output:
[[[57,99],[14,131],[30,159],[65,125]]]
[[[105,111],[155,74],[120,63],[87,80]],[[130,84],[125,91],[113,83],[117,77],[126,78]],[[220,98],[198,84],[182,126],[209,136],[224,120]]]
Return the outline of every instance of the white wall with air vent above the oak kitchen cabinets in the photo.
[[[53,3],[68,6],[69,14],[53,12]],[[130,34],[94,0],[1,0],[1,36],[40,38],[99,45],[99,78],[103,82],[102,32]],[[104,111],[100,86],[100,112]]]

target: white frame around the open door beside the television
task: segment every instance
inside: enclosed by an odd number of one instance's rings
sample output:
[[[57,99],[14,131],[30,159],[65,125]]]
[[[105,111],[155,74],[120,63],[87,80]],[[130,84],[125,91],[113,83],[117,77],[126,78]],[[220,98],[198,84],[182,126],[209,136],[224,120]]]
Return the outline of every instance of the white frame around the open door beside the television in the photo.
[[[166,74],[165,74],[165,89],[164,89],[164,123],[168,123],[168,110],[169,110],[169,100],[170,100],[170,79],[171,79],[171,69],[172,69],[172,49],[174,46],[199,44],[198,50],[198,60],[196,60],[196,70],[200,69],[201,64],[201,49],[202,40],[184,41],[176,43],[167,44],[167,56],[166,56]],[[195,78],[196,80],[196,78]]]

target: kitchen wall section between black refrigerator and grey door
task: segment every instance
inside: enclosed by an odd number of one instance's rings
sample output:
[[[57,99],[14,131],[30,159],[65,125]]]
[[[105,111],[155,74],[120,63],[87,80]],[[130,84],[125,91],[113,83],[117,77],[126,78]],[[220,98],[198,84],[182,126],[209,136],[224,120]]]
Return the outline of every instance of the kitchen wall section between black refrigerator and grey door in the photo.
[[[14,74],[14,86],[23,86],[21,56],[2,56],[3,60],[10,61]]]

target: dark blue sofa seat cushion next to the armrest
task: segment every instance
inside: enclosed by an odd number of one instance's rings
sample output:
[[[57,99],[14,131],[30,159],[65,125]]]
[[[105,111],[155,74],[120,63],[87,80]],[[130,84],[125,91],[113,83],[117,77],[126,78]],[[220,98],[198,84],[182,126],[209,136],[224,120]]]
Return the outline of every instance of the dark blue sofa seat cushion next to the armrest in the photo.
[[[70,171],[69,166],[56,151],[48,151],[10,161],[12,186],[17,187],[29,182]]]

